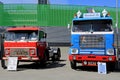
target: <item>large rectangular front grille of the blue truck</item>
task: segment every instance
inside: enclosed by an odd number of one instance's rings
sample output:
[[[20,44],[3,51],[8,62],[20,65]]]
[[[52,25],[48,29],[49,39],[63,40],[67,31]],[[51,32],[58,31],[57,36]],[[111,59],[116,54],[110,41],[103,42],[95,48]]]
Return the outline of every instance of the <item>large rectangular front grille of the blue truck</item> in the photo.
[[[80,48],[104,48],[105,38],[103,35],[81,35]]]

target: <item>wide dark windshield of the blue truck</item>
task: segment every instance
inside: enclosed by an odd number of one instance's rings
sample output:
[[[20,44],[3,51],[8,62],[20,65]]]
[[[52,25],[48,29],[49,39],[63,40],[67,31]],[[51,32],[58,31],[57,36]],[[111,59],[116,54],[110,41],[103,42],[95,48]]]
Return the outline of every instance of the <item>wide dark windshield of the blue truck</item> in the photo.
[[[110,32],[112,31],[111,20],[82,20],[73,21],[73,32]]]

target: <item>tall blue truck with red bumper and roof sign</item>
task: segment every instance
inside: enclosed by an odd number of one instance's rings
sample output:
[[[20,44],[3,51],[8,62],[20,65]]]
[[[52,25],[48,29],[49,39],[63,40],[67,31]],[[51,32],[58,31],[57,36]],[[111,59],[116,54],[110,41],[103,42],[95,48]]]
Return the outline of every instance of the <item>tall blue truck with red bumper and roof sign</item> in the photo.
[[[98,66],[98,62],[105,62],[107,67],[115,68],[117,58],[112,21],[105,9],[101,13],[94,9],[88,13],[82,14],[80,10],[76,13],[71,25],[69,49],[72,69],[77,68],[77,63]]]

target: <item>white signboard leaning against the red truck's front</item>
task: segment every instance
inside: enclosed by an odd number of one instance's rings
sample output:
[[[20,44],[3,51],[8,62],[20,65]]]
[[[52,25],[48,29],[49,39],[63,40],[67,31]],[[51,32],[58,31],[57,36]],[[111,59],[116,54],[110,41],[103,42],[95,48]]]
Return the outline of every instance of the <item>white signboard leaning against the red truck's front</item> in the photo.
[[[8,57],[7,70],[17,70],[18,57]]]

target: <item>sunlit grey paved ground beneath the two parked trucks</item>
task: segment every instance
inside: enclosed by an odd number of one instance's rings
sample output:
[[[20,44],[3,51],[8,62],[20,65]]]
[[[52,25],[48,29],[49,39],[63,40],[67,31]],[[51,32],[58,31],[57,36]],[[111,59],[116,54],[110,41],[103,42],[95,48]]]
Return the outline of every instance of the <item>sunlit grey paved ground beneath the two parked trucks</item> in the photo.
[[[72,70],[68,61],[68,48],[62,47],[60,62],[48,63],[40,68],[34,63],[20,63],[18,71],[7,71],[0,67],[0,80],[120,80],[120,71],[98,74],[96,68]],[[78,67],[81,68],[81,67]]]

